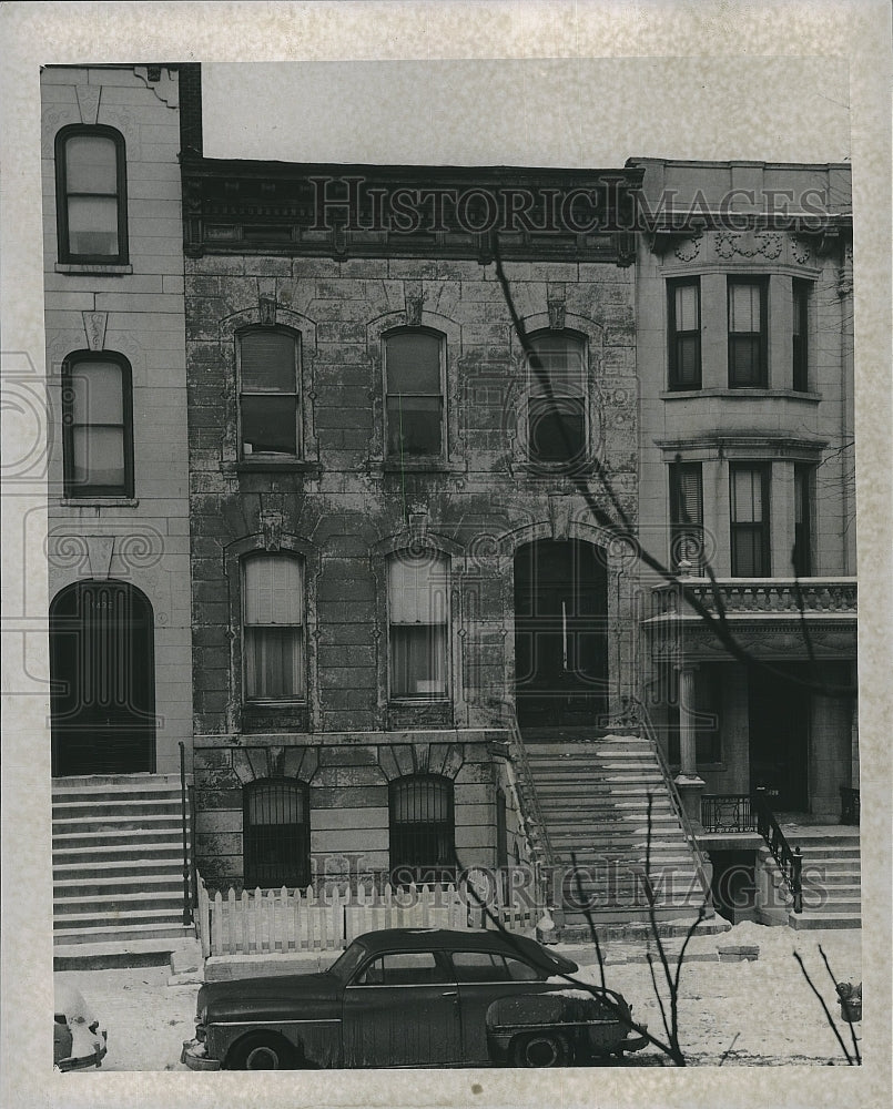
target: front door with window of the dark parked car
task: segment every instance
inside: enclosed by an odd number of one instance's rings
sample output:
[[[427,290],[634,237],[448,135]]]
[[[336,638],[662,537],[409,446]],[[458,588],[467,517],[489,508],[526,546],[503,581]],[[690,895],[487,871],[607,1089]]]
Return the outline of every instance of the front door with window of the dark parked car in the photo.
[[[463,1061],[458,987],[436,952],[394,952],[359,967],[344,990],[347,1067]]]

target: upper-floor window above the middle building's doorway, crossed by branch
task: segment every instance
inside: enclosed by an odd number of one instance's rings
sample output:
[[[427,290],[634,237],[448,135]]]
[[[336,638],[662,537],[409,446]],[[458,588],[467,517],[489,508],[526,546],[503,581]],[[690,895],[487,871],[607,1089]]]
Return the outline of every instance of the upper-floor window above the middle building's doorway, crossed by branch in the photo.
[[[587,446],[586,345],[569,332],[530,336],[539,367],[530,359],[527,442],[531,461],[575,462]]]

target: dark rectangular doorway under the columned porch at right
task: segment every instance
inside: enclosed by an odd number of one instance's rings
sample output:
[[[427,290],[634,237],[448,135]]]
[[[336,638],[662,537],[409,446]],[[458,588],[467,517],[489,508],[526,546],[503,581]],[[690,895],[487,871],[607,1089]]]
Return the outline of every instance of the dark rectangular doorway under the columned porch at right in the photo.
[[[750,785],[777,812],[809,811],[809,692],[791,679],[804,663],[773,663],[780,674],[752,670],[748,683]]]

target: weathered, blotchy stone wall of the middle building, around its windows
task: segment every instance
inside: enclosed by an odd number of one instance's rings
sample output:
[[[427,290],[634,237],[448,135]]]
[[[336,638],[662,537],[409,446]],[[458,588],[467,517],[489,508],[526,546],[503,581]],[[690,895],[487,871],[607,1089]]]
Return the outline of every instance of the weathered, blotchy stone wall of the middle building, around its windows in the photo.
[[[564,263],[506,269],[529,330],[548,328],[551,302],[585,337],[592,441],[635,519],[631,271]],[[304,458],[280,467],[240,461],[236,449],[234,334],[260,323],[262,299],[275,304],[277,324],[302,336]],[[354,853],[385,868],[393,775],[382,744],[407,755],[435,751],[444,730],[463,752],[455,777],[460,861],[493,865],[497,777],[475,736],[498,728],[498,702],[513,689],[518,546],[554,537],[605,549],[613,693],[635,682],[625,552],[609,548],[566,476],[526,467],[521,352],[494,267],[209,255],[186,262],[186,312],[200,869],[209,881],[241,878],[236,762],[255,744],[284,752],[290,767],[293,749],[315,752],[298,772],[308,774],[314,858]],[[446,336],[447,450],[435,466],[400,472],[385,459],[380,336],[412,322]],[[607,503],[599,482],[591,487]],[[449,703],[388,703],[385,559],[414,539],[450,559]],[[271,545],[305,562],[306,705],[242,700],[239,559]],[[510,852],[517,827],[509,804]]]

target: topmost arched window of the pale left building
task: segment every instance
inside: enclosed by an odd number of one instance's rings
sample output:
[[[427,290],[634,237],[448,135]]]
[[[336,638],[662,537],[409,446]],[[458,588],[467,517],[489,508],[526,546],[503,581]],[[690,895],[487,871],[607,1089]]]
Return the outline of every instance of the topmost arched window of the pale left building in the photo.
[[[114,128],[62,128],[55,136],[59,261],[123,265],[128,261],[124,138]]]

